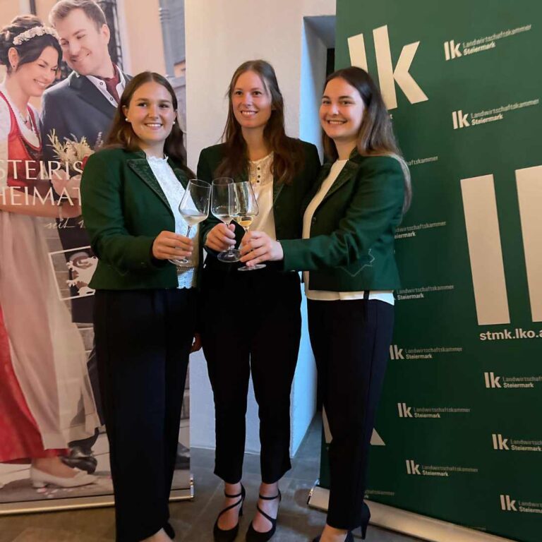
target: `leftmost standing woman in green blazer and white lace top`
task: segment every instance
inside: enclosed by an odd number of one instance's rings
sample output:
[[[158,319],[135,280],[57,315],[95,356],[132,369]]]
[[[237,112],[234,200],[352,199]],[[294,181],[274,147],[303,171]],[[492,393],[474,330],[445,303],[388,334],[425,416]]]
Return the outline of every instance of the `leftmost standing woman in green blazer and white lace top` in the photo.
[[[116,540],[171,541],[168,501],[196,321],[198,237],[179,203],[190,171],[174,90],[157,73],[126,86],[106,148],[81,182],[98,258],[95,342],[115,493]],[[191,257],[177,269],[169,258]]]

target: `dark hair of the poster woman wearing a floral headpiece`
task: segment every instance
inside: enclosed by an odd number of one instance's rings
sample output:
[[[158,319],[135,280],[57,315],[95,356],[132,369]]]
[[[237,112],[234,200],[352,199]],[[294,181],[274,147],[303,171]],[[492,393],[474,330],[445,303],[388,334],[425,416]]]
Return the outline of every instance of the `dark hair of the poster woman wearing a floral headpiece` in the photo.
[[[40,58],[43,49],[45,47],[53,47],[59,54],[59,64],[62,58],[62,49],[59,45],[59,40],[50,34],[44,34],[42,36],[35,36],[26,40],[20,45],[13,45],[13,38],[22,34],[26,30],[35,28],[37,26],[43,26],[42,21],[34,15],[21,15],[14,18],[11,23],[4,26],[0,30],[0,64],[4,64],[7,67],[8,73],[13,71],[9,62],[9,49],[15,47],[19,54],[19,61],[17,69],[23,64],[30,64]]]

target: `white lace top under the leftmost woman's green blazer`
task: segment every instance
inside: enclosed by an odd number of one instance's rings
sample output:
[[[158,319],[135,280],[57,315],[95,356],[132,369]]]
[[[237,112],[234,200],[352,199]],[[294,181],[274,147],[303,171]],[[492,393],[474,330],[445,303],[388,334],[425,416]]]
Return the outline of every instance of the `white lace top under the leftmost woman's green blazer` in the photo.
[[[150,169],[152,169],[152,173],[155,174],[156,180],[158,181],[160,188],[162,188],[167,202],[169,203],[169,207],[171,207],[171,211],[173,212],[173,216],[175,217],[175,233],[186,236],[188,224],[186,224],[181,212],[179,212],[179,203],[181,203],[184,195],[183,185],[179,182],[173,169],[171,169],[171,166],[167,163],[167,157],[157,158],[155,156],[147,156],[147,162],[150,165]],[[179,288],[195,287],[195,270],[199,263],[198,231],[198,226],[192,227],[190,231],[190,239],[192,239],[194,243],[191,266],[177,267]]]

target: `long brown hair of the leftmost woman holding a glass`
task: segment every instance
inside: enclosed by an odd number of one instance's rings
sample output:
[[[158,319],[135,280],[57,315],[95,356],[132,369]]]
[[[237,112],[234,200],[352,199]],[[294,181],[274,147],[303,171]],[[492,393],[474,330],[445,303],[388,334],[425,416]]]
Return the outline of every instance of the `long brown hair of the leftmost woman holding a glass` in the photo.
[[[133,132],[132,125],[126,121],[126,115],[123,110],[124,107],[129,107],[133,94],[141,85],[145,83],[158,83],[162,87],[166,88],[171,95],[171,103],[173,109],[177,111],[178,103],[177,97],[173,87],[169,84],[169,81],[161,76],[159,73],[153,71],[143,71],[133,77],[126,85],[124,92],[122,93],[119,107],[116,108],[113,124],[109,129],[109,134],[105,140],[105,148],[123,148],[131,152],[140,150],[138,145],[138,136]],[[171,128],[171,133],[167,136],[164,142],[164,154],[179,162],[181,168],[188,174],[193,175],[192,171],[186,167],[184,160],[184,147],[183,147],[183,132],[179,127],[179,123],[175,122]]]

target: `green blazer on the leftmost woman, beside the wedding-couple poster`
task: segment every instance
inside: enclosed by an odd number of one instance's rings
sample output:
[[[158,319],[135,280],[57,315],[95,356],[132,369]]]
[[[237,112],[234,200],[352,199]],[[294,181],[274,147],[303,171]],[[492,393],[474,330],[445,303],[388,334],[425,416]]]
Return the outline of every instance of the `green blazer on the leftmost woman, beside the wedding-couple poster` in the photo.
[[[169,165],[186,188],[185,171],[171,159]],[[92,155],[81,179],[81,202],[98,258],[91,288],[177,287],[175,265],[152,257],[156,236],[175,231],[175,219],[145,152],[106,149]]]

